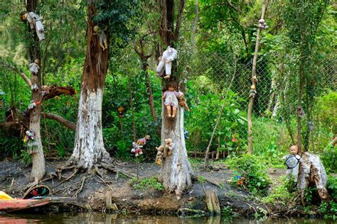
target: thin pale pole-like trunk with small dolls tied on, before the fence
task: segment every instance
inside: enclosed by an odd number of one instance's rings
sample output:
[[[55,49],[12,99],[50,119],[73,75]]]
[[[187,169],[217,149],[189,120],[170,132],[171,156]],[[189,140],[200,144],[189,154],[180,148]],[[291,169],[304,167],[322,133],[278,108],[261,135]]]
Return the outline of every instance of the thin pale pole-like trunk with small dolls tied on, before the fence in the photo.
[[[262,13],[261,19],[264,18],[264,13],[266,11],[266,4],[265,0],[262,0]],[[256,61],[257,61],[257,52],[259,52],[259,45],[260,45],[260,33],[261,29],[257,29],[257,36],[256,36],[256,43],[255,43],[255,52],[254,52],[254,59],[252,65],[252,86],[257,86],[257,79],[256,79]],[[252,91],[252,90],[251,90]],[[255,89],[254,89],[255,91]],[[248,104],[248,113],[247,113],[247,121],[248,121],[248,153],[252,154],[253,150],[253,140],[252,140],[252,106],[254,104],[255,94],[250,94],[250,103]]]

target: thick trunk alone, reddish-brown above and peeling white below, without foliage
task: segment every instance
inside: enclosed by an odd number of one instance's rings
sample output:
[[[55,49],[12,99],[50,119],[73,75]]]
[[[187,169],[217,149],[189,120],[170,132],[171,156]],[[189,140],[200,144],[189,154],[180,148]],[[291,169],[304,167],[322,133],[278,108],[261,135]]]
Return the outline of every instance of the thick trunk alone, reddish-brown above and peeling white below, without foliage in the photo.
[[[87,169],[95,164],[109,164],[111,157],[105,150],[102,135],[102,100],[107,74],[109,48],[102,50],[99,38],[93,35],[92,23],[95,16],[93,4],[87,6],[87,52],[82,74],[82,86],[77,115],[76,136],[73,155],[67,166],[75,165],[77,169]],[[109,43],[109,34],[106,32]],[[61,167],[60,169],[64,169]]]

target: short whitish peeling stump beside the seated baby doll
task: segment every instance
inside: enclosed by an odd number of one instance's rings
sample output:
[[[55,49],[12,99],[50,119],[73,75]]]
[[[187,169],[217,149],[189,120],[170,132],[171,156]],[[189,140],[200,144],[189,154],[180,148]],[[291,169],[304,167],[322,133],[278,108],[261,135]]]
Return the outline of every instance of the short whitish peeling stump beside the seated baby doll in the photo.
[[[326,176],[326,170],[319,159],[318,155],[310,154],[309,152],[303,152],[303,161],[299,167],[299,179],[297,182],[297,189],[301,195],[302,203],[304,202],[304,193],[308,186],[315,186],[319,192],[319,196],[323,201],[328,200],[330,197],[326,189],[326,183],[328,177]]]

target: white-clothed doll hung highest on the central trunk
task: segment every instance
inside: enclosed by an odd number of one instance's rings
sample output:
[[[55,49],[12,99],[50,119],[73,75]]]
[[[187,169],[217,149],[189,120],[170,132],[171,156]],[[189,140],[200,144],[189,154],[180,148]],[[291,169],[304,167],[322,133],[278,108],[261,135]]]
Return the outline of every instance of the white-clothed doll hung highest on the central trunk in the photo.
[[[163,77],[164,75],[164,65],[165,65],[165,76],[164,79],[169,79],[171,76],[171,62],[177,57],[177,50],[173,47],[167,47],[167,49],[163,52],[163,55],[159,57],[159,64],[157,66],[156,72],[157,75]]]

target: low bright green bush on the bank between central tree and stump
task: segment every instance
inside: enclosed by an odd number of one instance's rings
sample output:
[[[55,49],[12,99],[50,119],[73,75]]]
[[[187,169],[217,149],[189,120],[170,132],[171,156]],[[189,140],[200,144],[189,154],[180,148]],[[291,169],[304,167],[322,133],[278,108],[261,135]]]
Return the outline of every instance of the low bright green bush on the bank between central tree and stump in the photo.
[[[240,173],[240,177],[245,177],[243,184],[248,190],[257,194],[267,190],[270,181],[259,157],[246,154],[228,159],[228,164],[231,169]]]

